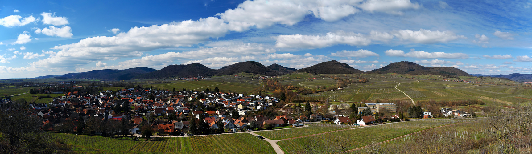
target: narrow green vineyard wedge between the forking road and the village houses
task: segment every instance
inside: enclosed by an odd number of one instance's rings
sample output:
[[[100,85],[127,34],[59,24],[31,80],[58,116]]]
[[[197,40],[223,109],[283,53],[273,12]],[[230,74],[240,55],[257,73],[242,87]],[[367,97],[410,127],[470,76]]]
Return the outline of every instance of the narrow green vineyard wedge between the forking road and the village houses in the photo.
[[[280,140],[280,139],[295,138],[295,137],[311,135],[311,134],[318,134],[318,133],[323,133],[323,132],[350,129],[354,127],[354,126],[335,125],[335,124],[327,124],[327,123],[313,123],[313,124],[307,124],[307,125],[309,126],[304,126],[302,128],[296,128],[296,129],[283,129],[283,130],[277,130],[277,131],[261,131],[261,132],[255,132],[255,133],[262,135],[268,139]]]

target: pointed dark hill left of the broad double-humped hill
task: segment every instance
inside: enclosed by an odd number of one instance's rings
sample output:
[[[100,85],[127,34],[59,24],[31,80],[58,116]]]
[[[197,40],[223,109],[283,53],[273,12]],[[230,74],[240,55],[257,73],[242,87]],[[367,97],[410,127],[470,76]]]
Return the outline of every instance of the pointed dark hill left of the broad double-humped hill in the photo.
[[[332,60],[329,62],[321,62],[319,64],[299,69],[296,72],[306,72],[315,74],[361,74],[360,70],[354,69],[346,63],[340,63]]]

